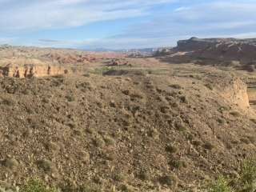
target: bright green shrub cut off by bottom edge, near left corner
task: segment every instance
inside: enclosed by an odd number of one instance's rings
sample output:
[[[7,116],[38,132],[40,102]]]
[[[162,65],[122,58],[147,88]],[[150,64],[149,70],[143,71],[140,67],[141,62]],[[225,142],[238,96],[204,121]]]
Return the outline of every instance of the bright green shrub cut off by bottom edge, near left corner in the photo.
[[[21,187],[20,192],[57,192],[55,187],[48,187],[39,179],[31,179]]]

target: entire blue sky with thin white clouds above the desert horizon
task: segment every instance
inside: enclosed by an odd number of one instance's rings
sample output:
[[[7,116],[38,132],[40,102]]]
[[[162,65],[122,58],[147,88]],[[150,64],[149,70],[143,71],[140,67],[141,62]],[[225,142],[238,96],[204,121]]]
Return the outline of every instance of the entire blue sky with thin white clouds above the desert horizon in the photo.
[[[0,44],[78,49],[256,38],[256,0],[0,0]]]

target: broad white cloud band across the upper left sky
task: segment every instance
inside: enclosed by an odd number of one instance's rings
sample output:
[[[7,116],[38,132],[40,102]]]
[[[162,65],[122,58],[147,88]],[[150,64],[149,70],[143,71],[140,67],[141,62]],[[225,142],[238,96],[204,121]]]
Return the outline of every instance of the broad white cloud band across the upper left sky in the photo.
[[[45,30],[148,14],[151,6],[174,0],[0,0],[0,31]]]

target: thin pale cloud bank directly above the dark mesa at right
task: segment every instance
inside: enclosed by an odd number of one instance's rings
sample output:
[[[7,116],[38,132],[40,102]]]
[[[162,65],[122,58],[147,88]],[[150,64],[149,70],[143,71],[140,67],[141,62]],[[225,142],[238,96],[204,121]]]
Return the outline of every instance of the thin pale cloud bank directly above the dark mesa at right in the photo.
[[[132,26],[118,37],[166,38],[174,46],[181,37],[239,37],[256,32],[255,1],[209,1],[180,6],[150,22]],[[256,38],[256,36],[254,36]]]

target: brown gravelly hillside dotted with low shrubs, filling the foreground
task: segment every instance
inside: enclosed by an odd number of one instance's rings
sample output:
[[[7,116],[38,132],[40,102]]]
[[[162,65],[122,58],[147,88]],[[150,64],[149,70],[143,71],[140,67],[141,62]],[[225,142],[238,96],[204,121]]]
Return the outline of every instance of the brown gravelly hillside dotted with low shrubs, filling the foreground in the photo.
[[[0,185],[38,177],[66,191],[195,191],[237,176],[256,150],[246,74],[112,59],[0,78]]]

